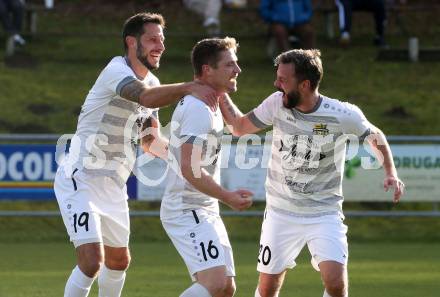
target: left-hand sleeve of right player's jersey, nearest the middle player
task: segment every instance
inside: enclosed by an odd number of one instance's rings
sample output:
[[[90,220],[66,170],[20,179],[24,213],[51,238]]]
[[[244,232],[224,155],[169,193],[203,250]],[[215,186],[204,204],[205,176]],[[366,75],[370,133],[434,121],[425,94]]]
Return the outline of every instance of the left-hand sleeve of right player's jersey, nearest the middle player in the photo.
[[[281,92],[275,92],[264,99],[259,106],[249,113],[252,124],[262,129],[273,125],[275,113],[279,109],[282,100]]]

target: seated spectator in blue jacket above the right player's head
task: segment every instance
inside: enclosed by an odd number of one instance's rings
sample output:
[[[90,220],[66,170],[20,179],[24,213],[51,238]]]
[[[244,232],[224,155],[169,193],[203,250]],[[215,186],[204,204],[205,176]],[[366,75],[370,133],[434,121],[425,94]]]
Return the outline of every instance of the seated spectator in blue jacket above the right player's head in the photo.
[[[269,34],[276,43],[276,50],[268,48],[270,56],[291,48],[291,34],[299,39],[301,48],[314,48],[315,34],[310,23],[313,14],[311,0],[261,0],[260,13],[269,23]]]

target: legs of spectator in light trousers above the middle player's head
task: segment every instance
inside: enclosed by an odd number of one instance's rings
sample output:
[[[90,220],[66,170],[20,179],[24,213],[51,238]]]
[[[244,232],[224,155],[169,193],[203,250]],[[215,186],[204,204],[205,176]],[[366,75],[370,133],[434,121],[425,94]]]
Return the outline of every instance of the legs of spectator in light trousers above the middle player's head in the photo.
[[[183,0],[185,6],[195,13],[203,16],[203,27],[210,37],[220,35],[220,10],[222,0]]]

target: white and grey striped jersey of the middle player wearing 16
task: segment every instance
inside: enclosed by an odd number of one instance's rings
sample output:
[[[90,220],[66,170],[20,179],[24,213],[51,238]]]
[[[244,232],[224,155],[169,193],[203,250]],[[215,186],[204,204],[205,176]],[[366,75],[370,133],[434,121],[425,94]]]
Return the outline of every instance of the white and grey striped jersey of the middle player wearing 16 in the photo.
[[[223,136],[223,117],[220,109],[213,112],[204,102],[185,96],[171,119],[167,186],[162,198],[161,218],[170,219],[193,209],[218,214],[218,200],[196,190],[180,173],[181,144],[203,147],[202,168],[220,184],[220,149]]]

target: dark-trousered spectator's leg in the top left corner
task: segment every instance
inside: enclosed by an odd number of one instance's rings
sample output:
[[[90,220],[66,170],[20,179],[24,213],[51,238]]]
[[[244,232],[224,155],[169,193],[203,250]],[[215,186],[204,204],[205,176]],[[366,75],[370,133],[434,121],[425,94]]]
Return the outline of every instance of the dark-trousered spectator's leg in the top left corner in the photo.
[[[0,0],[0,19],[6,34],[14,38],[18,45],[26,41],[19,34],[23,24],[24,2],[22,0]]]

